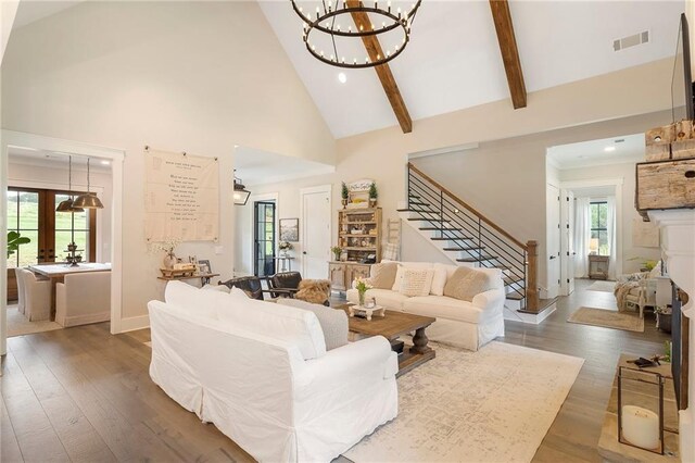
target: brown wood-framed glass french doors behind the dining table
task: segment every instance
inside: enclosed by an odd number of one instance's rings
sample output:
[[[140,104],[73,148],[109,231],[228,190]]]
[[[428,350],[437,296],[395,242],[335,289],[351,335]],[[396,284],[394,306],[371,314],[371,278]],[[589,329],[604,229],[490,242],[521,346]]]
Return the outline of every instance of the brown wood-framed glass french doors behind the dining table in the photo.
[[[8,189],[8,232],[18,232],[31,240],[20,246],[18,251],[8,259],[8,268],[39,262],[64,262],[73,237],[83,260],[94,260],[97,215],[89,210],[55,212],[58,204],[67,198],[67,191]]]

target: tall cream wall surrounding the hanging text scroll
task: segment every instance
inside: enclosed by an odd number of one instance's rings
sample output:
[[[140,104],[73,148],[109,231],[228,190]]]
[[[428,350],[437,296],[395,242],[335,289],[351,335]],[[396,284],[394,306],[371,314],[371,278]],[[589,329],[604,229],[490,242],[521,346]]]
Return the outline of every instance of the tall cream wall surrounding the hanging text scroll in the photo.
[[[233,146],[334,162],[334,140],[255,2],[84,2],[13,32],[2,102],[3,128],[126,152],[115,199],[124,318],[146,315],[163,289],[162,255],[143,233],[146,145],[219,158],[219,243],[177,254],[210,259],[223,276],[233,266]]]

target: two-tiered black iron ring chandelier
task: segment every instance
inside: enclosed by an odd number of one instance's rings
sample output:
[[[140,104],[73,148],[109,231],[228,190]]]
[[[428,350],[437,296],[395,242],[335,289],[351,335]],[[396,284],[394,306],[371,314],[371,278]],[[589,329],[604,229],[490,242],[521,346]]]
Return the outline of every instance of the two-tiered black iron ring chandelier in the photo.
[[[304,11],[298,4],[298,0],[290,1],[294,12],[303,21],[302,40],[306,50],[314,58],[332,66],[365,68],[388,63],[405,50],[405,47],[410,41],[410,26],[422,0],[416,0],[405,11],[402,8],[393,9],[391,1],[384,2],[383,0],[381,5],[379,5],[378,0],[374,2],[321,0],[314,14]],[[375,18],[380,20],[380,22],[375,21]],[[341,27],[341,21],[348,26]],[[355,25],[354,28],[352,26],[353,23]],[[362,39],[366,45],[368,37],[378,39],[396,29],[401,30],[401,37],[393,49],[387,48],[386,51],[382,50],[379,45],[381,42],[387,43],[388,40],[381,40],[376,43],[377,48],[372,51],[372,54],[376,55],[372,57],[367,55],[364,59],[351,57],[345,59],[344,55],[339,53],[337,38]],[[314,37],[312,33],[323,35],[324,40],[330,39],[326,46],[328,51],[321,49],[320,46],[317,48],[316,43],[312,42],[312,37]]]

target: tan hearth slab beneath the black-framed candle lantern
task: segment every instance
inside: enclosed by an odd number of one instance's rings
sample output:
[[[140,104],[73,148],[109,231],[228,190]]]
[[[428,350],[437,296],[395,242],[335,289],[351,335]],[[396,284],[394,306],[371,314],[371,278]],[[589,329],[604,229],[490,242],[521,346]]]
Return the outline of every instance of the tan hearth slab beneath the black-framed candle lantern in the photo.
[[[604,426],[598,439],[598,454],[606,462],[680,462],[678,406],[675,405],[675,391],[673,390],[673,375],[671,374],[670,363],[661,362],[660,366],[644,368],[645,372],[656,372],[667,378],[664,385],[664,454],[659,455],[618,441],[618,367],[636,368],[633,363],[628,363],[628,360],[634,360],[639,356],[624,353],[620,355],[616,366],[616,378],[612,381],[610,399],[608,399],[608,406],[606,408]]]

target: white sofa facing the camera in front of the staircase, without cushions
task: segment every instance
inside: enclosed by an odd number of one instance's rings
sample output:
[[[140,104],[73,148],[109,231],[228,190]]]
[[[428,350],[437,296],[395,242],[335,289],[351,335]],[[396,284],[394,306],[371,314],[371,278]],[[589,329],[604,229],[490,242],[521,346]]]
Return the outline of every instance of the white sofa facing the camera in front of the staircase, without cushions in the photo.
[[[434,268],[451,277],[457,265],[433,264],[429,262],[400,262],[408,268]],[[437,318],[427,330],[433,341],[477,351],[479,348],[504,336],[505,289],[502,271],[498,268],[475,268],[494,277],[494,289],[473,297],[472,302],[446,296],[407,297],[392,289],[368,289],[367,297],[374,297],[378,305],[406,313],[433,316]],[[348,300],[357,303],[356,289],[348,290]]]

